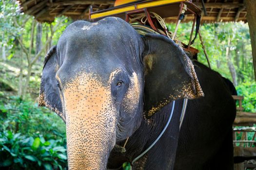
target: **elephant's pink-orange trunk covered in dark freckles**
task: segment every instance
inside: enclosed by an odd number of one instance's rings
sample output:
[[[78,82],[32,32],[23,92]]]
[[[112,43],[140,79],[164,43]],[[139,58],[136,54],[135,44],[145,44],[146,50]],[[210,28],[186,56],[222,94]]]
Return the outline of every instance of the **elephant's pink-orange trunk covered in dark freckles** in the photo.
[[[108,86],[96,79],[82,78],[74,80],[63,93],[68,167],[69,170],[105,170],[116,143],[117,112]]]

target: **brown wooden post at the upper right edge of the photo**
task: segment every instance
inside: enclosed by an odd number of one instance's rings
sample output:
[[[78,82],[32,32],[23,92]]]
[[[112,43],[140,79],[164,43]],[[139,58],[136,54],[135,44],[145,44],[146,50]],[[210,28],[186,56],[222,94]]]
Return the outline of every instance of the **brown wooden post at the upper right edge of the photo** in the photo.
[[[254,63],[254,76],[256,80],[256,0],[245,0],[247,21],[250,29],[253,63]]]

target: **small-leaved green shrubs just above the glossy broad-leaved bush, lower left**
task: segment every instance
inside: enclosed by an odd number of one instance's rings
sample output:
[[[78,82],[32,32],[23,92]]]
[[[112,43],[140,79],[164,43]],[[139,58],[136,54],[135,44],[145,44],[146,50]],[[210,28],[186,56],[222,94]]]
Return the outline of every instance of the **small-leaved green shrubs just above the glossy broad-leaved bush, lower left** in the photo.
[[[38,107],[31,99],[0,97],[0,113],[0,131],[10,130],[34,137],[42,134],[47,139],[65,137],[62,119],[49,109]]]

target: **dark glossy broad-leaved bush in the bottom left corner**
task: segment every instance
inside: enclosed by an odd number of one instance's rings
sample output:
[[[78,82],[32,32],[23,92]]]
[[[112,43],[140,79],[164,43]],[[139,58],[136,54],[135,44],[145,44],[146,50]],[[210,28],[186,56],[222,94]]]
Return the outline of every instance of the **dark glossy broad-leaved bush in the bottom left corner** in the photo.
[[[0,167],[10,170],[66,169],[66,148],[59,140],[45,140],[41,135],[22,136],[11,131],[0,132]]]

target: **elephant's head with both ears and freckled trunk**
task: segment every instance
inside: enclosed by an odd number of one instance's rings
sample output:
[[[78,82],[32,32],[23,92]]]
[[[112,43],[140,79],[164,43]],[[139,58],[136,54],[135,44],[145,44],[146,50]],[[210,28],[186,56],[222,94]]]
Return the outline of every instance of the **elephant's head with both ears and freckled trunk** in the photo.
[[[107,17],[69,25],[45,58],[39,105],[66,123],[69,169],[105,169],[116,142],[167,103],[202,96],[172,40]],[[143,117],[144,115],[144,117]]]

